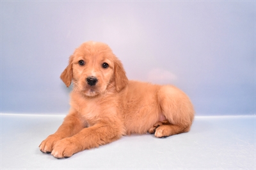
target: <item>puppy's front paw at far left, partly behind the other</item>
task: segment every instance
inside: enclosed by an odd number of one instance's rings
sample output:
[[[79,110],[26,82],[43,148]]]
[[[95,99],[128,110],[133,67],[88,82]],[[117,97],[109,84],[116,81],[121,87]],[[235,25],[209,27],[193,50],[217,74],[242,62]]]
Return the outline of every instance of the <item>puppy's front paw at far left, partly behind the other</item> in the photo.
[[[52,152],[52,148],[54,146],[54,144],[57,141],[60,141],[61,137],[58,137],[58,135],[49,135],[44,141],[42,141],[42,143],[39,145],[40,151],[44,152],[44,153],[51,153]]]

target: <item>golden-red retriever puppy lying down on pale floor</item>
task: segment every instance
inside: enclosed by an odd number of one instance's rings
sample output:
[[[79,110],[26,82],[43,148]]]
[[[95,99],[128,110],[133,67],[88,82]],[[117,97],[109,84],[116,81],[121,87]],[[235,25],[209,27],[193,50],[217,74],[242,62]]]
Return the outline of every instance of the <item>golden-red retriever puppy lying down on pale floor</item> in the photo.
[[[70,111],[58,130],[40,144],[56,158],[120,139],[188,132],[194,109],[174,86],[128,81],[122,63],[105,43],[86,42],[70,56],[60,78],[70,86]]]

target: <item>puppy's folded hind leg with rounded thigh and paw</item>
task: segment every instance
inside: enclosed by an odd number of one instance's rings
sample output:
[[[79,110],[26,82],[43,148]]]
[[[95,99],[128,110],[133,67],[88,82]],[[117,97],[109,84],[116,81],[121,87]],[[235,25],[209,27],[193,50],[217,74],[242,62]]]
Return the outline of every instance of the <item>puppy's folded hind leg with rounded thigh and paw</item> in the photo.
[[[157,99],[168,124],[159,125],[155,129],[155,136],[166,137],[188,132],[195,112],[188,96],[174,86],[162,86],[157,93]]]

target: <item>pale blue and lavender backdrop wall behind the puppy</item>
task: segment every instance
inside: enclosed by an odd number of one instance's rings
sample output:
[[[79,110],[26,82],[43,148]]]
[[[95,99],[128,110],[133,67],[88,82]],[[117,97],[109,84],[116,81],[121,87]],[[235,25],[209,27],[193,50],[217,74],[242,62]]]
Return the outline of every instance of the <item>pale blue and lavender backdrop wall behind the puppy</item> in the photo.
[[[255,114],[255,1],[1,1],[1,112],[66,114],[59,77],[88,40],[197,115]]]

